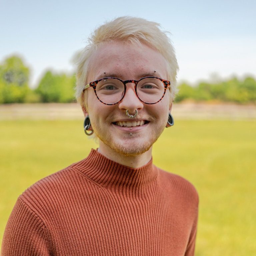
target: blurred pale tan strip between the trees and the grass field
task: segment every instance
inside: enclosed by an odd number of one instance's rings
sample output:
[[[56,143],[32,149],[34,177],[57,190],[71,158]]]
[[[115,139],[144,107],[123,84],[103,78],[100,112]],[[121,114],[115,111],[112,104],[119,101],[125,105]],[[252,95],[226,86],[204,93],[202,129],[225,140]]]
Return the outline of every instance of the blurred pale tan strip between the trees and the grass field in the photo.
[[[256,105],[176,103],[172,114],[178,119],[256,119]],[[77,103],[0,105],[0,120],[83,119]]]

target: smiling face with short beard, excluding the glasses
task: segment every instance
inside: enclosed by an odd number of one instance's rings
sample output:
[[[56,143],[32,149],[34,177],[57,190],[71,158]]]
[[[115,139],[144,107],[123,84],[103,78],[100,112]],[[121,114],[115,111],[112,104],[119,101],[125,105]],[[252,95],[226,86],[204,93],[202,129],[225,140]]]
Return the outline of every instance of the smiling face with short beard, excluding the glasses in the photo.
[[[145,76],[167,80],[166,60],[144,44],[139,47],[124,42],[104,43],[90,59],[87,82],[110,76],[122,80],[139,80]],[[84,112],[89,114],[93,130],[100,139],[100,148],[107,146],[124,156],[148,151],[163,132],[170,111],[168,92],[160,102],[145,104],[136,96],[134,85],[126,84],[125,96],[116,105],[101,103],[92,87],[86,89],[88,100]],[[136,109],[136,117],[126,115],[126,110],[134,114]]]

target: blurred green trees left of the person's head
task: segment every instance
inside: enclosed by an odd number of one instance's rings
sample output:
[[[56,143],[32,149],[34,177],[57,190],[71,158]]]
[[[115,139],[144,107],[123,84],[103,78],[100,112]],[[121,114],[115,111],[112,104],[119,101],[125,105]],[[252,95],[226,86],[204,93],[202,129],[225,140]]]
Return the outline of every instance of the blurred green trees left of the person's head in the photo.
[[[36,89],[28,86],[29,68],[18,56],[0,63],[0,104],[36,102],[75,102],[75,74],[46,71]]]

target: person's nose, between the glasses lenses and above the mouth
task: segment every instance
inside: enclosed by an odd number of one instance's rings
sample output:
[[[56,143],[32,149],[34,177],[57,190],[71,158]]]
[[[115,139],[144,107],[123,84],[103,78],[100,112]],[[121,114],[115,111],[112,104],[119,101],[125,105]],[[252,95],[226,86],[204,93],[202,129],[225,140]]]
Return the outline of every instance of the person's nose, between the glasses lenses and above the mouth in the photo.
[[[139,100],[135,92],[135,85],[133,83],[126,84],[126,92],[122,101],[118,105],[119,109],[124,112],[128,110],[130,114],[134,114],[137,110],[143,108],[143,103]]]

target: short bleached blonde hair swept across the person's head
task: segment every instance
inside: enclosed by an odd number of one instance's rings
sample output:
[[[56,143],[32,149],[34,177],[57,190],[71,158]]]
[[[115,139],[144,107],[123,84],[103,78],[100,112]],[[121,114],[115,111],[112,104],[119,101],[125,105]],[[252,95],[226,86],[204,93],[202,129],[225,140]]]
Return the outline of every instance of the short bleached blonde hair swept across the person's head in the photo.
[[[86,91],[83,87],[86,83],[90,57],[97,48],[105,42],[125,41],[132,44],[147,44],[156,49],[167,61],[168,80],[170,86],[170,100],[177,93],[176,76],[178,63],[172,43],[167,36],[168,32],[160,30],[160,24],[135,17],[119,17],[98,27],[88,38],[88,45],[79,54],[76,72],[76,98],[81,106],[87,106]]]

